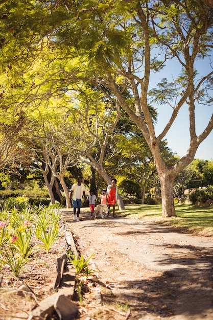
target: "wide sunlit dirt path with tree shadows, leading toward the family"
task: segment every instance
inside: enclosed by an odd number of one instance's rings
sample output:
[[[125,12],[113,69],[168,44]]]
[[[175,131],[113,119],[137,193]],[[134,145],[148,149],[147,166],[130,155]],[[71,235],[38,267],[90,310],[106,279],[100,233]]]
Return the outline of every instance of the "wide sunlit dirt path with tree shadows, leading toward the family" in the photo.
[[[63,212],[80,252],[94,254],[99,276],[79,318],[213,319],[212,238],[174,232],[154,219],[89,216],[85,208],[73,222],[72,211]]]

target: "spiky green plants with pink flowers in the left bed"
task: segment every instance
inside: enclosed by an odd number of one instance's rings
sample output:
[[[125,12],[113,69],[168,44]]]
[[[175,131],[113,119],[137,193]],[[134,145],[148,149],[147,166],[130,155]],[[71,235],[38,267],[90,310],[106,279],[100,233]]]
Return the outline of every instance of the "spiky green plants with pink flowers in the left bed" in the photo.
[[[58,210],[40,207],[37,214],[35,208],[0,212],[0,269],[7,263],[16,277],[38,245],[49,253],[62,235]]]

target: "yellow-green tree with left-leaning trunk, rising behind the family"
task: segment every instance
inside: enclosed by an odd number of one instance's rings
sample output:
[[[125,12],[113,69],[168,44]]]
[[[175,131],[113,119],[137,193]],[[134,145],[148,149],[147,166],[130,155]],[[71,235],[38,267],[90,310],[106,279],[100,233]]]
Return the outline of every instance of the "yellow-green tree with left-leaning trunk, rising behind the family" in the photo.
[[[96,170],[109,185],[111,178],[105,170],[105,164],[117,153],[113,144],[113,131],[120,117],[120,106],[110,95],[104,95],[96,88],[79,89],[78,107],[73,109],[74,127],[78,140],[70,135],[70,148],[77,157]],[[124,203],[117,197],[120,210]]]

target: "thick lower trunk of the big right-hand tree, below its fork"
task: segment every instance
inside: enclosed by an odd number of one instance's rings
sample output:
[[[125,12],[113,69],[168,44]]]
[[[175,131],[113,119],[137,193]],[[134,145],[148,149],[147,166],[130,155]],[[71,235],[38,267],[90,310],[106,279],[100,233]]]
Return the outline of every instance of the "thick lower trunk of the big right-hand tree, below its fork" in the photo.
[[[174,175],[159,175],[162,199],[162,217],[176,217],[173,196]]]

